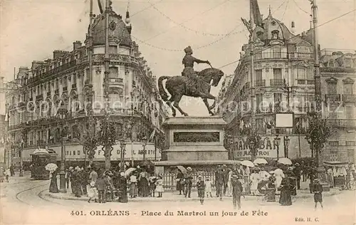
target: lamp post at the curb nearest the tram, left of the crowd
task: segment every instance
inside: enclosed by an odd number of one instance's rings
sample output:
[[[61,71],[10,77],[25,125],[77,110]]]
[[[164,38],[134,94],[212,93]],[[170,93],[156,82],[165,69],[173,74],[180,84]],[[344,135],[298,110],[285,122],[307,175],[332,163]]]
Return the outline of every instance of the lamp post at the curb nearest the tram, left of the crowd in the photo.
[[[58,109],[58,115],[61,118],[61,120],[66,119],[66,115],[68,114],[68,110],[66,107],[62,104],[61,107]],[[64,127],[61,129],[61,171],[59,172],[59,192],[61,193],[67,193],[66,190],[66,172],[65,172],[65,167],[64,167],[64,162],[66,160],[66,145],[65,145],[65,139],[66,139],[66,130]]]

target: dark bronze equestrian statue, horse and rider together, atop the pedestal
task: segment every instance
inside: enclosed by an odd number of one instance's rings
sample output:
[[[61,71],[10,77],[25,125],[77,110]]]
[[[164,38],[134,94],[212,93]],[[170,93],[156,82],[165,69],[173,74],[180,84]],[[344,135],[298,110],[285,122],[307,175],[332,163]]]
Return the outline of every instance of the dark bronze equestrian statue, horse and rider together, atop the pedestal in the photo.
[[[177,108],[179,112],[187,116],[188,114],[179,108],[179,101],[182,99],[183,95],[193,97],[193,98],[202,98],[206,108],[210,115],[214,115],[214,112],[211,112],[216,105],[216,97],[210,94],[211,85],[216,87],[221,77],[224,73],[216,68],[212,68],[209,61],[201,61],[192,56],[193,51],[190,46],[184,48],[185,56],[183,58],[182,64],[184,65],[184,70],[182,75],[177,76],[161,76],[158,79],[158,90],[159,95],[161,95],[162,100],[169,105],[169,108],[172,110],[172,115],[176,116]],[[200,72],[194,71],[194,63],[206,63],[211,68],[206,68]],[[169,98],[167,92],[163,88],[163,80],[167,80],[165,88],[168,90],[171,97]],[[209,106],[208,99],[213,99],[213,105]],[[173,105],[172,105],[173,103]]]

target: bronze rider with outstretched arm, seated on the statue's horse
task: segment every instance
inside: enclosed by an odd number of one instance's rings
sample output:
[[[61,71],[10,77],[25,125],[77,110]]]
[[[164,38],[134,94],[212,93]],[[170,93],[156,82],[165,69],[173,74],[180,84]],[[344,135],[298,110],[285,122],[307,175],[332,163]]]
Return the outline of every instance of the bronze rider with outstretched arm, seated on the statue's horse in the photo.
[[[202,61],[200,59],[194,58],[192,56],[193,50],[190,46],[187,48],[184,48],[185,56],[183,58],[182,64],[184,65],[184,70],[182,72],[182,75],[189,78],[191,82],[189,83],[189,88],[192,91],[192,95],[199,95],[199,80],[197,78],[197,73],[194,71],[194,62],[195,63],[206,63],[209,64],[209,61]]]

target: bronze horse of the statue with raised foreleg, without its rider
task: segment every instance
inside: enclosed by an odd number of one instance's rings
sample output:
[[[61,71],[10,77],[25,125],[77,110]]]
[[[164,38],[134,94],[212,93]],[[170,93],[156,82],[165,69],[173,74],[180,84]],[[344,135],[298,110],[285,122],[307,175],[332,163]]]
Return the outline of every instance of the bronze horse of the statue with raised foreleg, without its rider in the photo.
[[[174,77],[161,76],[158,79],[159,95],[161,95],[162,100],[164,100],[164,102],[166,102],[167,105],[169,105],[169,108],[172,109],[173,117],[176,116],[176,110],[174,108],[177,108],[182,115],[184,116],[188,115],[181,108],[179,108],[179,101],[182,99],[183,95],[194,97],[194,98],[202,98],[204,104],[206,105],[206,108],[208,109],[209,114],[214,115],[214,112],[211,112],[211,110],[215,108],[216,98],[214,97],[214,95],[210,94],[210,88],[211,85],[216,87],[219,84],[221,77],[223,75],[224,73],[216,68],[206,68],[204,70],[201,70],[197,75],[197,80],[198,80],[197,89],[199,90],[199,94],[196,95],[192,95],[192,92],[190,91],[189,88],[189,83],[191,83],[190,78],[187,78],[182,75],[177,75]],[[163,80],[166,79],[168,80],[165,86],[169,94],[171,95],[171,98],[169,99],[168,99],[168,94],[164,90],[162,84]],[[209,106],[208,99],[214,99],[213,105]],[[172,106],[172,103],[174,108]]]

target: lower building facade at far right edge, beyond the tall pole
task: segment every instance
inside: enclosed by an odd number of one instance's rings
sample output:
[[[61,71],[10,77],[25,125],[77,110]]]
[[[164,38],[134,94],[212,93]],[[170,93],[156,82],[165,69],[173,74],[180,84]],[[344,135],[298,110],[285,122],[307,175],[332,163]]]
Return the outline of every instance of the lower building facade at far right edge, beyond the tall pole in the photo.
[[[323,159],[355,163],[356,51],[324,49],[320,56],[324,114],[335,129]]]

